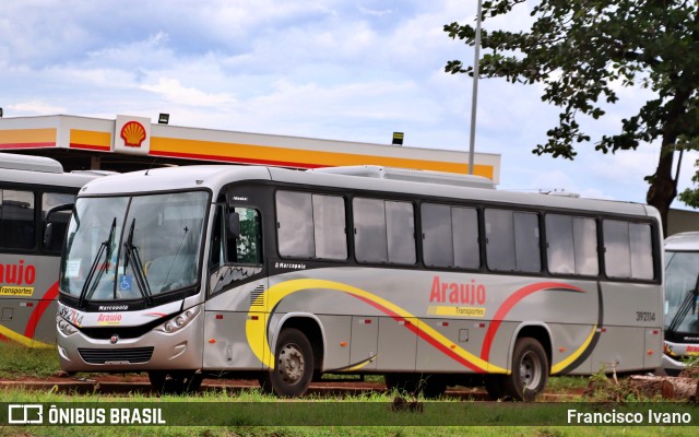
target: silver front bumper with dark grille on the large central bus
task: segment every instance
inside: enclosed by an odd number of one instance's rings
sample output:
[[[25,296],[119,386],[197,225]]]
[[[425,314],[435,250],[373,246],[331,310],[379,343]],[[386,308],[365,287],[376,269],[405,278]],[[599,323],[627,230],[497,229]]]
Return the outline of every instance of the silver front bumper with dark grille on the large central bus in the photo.
[[[202,367],[203,311],[174,332],[156,327],[138,338],[122,338],[115,327],[109,339],[93,339],[78,331],[58,331],[58,355],[66,371],[144,371]]]

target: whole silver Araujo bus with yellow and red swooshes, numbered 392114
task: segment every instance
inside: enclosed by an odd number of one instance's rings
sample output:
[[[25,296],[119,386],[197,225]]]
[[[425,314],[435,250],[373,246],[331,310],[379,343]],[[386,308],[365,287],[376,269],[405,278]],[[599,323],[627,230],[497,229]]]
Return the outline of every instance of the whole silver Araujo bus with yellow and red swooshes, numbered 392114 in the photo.
[[[437,397],[481,378],[656,369],[663,239],[648,205],[371,166],[156,168],[94,180],[59,280],[60,365],[154,389],[323,374]]]

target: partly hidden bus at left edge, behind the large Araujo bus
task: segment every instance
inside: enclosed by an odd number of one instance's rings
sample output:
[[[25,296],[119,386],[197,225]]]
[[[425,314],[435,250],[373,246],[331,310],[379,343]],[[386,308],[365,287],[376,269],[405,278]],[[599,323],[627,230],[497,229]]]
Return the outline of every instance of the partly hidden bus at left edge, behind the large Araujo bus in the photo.
[[[55,160],[0,153],[0,340],[56,347],[58,270],[78,190],[103,173],[63,173]],[[46,215],[52,231],[45,240]]]

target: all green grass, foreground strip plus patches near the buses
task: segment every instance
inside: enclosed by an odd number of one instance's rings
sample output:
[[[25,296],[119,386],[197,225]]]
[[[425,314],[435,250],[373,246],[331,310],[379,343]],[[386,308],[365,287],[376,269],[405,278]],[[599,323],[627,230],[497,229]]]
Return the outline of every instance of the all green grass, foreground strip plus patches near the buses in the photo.
[[[56,350],[25,349],[7,343],[0,343],[0,378],[17,379],[23,376],[49,377],[59,369]],[[331,379],[336,376],[330,376]],[[356,377],[354,377],[356,379]],[[370,376],[366,378],[370,382],[382,382],[381,376]],[[548,392],[567,392],[587,387],[588,377],[554,377],[549,379]],[[200,417],[216,409],[225,410],[229,414],[233,423],[229,426],[147,426],[147,425],[125,425],[125,426],[0,426],[0,434],[10,437],[33,437],[33,436],[66,436],[73,437],[80,435],[99,436],[202,436],[202,437],[237,437],[237,436],[264,436],[264,437],[324,437],[335,435],[347,436],[386,436],[386,437],[422,437],[422,436],[506,436],[506,437],[567,437],[567,436],[653,436],[653,437],[682,437],[695,436],[697,427],[683,426],[424,426],[430,421],[435,421],[433,414],[434,404],[430,401],[423,401],[424,413],[416,412],[388,412],[394,393],[365,393],[357,397],[328,399],[320,397],[307,397],[300,401],[279,400],[274,397],[263,394],[258,389],[250,390],[223,390],[221,392],[206,391],[190,397],[163,397],[129,393],[129,394],[103,394],[93,393],[88,395],[75,393],[59,393],[57,390],[28,391],[22,389],[0,390],[0,403],[43,403],[43,404],[67,404],[87,403],[88,405],[110,405],[128,404],[129,406],[145,405],[175,405],[187,403],[180,418]],[[253,423],[272,417],[275,414],[283,414],[283,411],[294,412],[294,405],[301,406],[316,402],[313,415],[319,414],[321,422],[333,424],[332,426],[250,426]],[[344,403],[344,404],[342,404]],[[377,405],[372,408],[371,404]],[[232,406],[233,405],[233,406]],[[289,405],[292,406],[289,410]],[[369,406],[367,406],[369,405]],[[509,404],[512,405],[512,404]],[[177,408],[178,405],[175,405]],[[440,414],[472,414],[475,417],[486,417],[495,414],[495,423],[517,424],[517,420],[507,418],[508,404],[499,403],[473,403],[448,400],[439,405]],[[616,408],[616,404],[615,404]],[[246,412],[240,414],[240,411]],[[383,410],[381,410],[383,409]],[[470,409],[460,411],[459,409]],[[475,410],[474,410],[475,409]],[[485,409],[485,410],[478,410]],[[377,413],[378,411],[378,413]],[[474,413],[475,411],[475,413]],[[237,415],[236,415],[237,412]],[[451,412],[451,413],[449,413]],[[0,416],[5,412],[0,411]],[[540,414],[540,411],[525,411],[526,414]],[[347,423],[347,417],[362,417],[367,421],[371,414],[388,414],[384,421],[386,426],[335,426],[339,423]],[[431,414],[431,415],[430,415]],[[498,422],[498,415],[502,415]],[[562,413],[556,413],[562,414]],[[696,413],[699,420],[699,411]],[[313,415],[308,423],[312,422]],[[236,418],[237,417],[237,418]],[[283,416],[282,416],[283,417]],[[293,417],[294,420],[298,417]],[[291,422],[294,423],[294,420]],[[197,423],[197,422],[192,422]],[[286,422],[283,422],[286,423]],[[352,421],[350,422],[352,423]],[[365,422],[368,423],[368,422]],[[383,422],[379,421],[383,424]],[[434,422],[433,422],[434,423]],[[448,423],[440,422],[437,424]],[[493,423],[493,420],[491,422]],[[401,426],[403,425],[403,426]],[[405,426],[407,425],[407,426]]]

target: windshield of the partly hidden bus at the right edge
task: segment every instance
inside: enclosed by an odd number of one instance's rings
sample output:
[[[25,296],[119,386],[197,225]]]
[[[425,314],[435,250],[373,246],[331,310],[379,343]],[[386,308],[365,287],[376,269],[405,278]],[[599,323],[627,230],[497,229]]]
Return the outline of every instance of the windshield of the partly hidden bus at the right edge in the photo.
[[[665,263],[665,330],[698,332],[699,252],[667,252]]]

